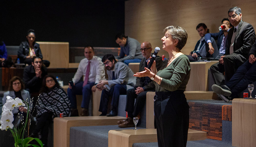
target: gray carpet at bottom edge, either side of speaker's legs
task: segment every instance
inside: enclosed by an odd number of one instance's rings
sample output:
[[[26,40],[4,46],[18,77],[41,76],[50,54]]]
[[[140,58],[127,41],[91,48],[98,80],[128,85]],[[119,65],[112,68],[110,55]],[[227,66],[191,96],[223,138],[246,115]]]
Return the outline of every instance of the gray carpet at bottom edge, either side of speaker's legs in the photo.
[[[134,143],[133,147],[158,147],[157,142],[150,143]],[[188,141],[187,147],[233,147],[232,143],[227,143],[224,141],[205,139],[198,141]]]

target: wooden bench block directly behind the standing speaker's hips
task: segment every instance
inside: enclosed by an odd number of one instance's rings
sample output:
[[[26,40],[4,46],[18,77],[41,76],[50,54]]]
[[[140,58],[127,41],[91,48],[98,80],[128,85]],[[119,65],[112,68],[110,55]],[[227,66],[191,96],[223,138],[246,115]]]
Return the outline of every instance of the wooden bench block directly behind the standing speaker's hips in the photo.
[[[212,91],[185,91],[187,100],[217,99],[216,93]],[[147,92],[146,98],[146,128],[154,128],[154,96],[155,92]]]

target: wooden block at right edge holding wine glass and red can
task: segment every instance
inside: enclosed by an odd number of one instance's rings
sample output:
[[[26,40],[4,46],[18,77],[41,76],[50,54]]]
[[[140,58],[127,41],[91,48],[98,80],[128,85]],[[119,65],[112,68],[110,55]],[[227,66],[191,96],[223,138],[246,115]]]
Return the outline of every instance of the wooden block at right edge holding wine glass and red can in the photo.
[[[232,100],[232,146],[256,146],[256,99]]]

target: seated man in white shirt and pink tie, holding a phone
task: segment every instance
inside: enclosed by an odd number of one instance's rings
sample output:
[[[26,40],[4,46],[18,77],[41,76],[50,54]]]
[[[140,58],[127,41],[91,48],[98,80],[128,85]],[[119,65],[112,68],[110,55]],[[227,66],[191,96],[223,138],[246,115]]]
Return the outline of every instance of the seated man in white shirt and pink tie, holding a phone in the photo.
[[[80,61],[77,72],[72,79],[73,85],[69,83],[67,90],[71,103],[71,116],[78,116],[76,95],[82,95],[83,97],[80,116],[89,115],[88,108],[92,91],[95,92],[95,85],[105,78],[103,63],[99,57],[94,56],[92,46],[84,48],[84,56],[86,58]],[[82,76],[84,76],[83,81],[79,81]]]

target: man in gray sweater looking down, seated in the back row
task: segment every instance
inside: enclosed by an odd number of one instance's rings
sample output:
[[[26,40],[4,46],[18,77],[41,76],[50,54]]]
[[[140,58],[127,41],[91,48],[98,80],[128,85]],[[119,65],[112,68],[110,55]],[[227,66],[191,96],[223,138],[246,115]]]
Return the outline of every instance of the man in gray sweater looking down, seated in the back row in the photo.
[[[140,62],[143,56],[140,52],[140,43],[124,34],[117,34],[115,42],[120,45],[121,51],[116,61],[124,62],[127,66],[129,63]],[[125,56],[127,55],[127,56]]]

